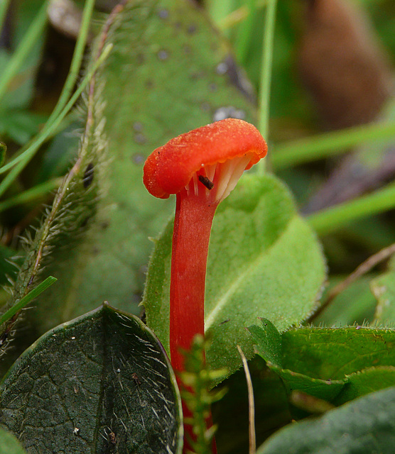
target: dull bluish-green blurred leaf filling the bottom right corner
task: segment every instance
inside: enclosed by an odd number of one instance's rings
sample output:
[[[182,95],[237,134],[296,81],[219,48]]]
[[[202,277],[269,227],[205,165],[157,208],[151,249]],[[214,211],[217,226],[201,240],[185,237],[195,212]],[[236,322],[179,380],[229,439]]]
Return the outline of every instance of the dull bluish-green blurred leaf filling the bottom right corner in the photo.
[[[293,423],[256,454],[392,454],[395,446],[395,388],[374,392],[318,419]]]

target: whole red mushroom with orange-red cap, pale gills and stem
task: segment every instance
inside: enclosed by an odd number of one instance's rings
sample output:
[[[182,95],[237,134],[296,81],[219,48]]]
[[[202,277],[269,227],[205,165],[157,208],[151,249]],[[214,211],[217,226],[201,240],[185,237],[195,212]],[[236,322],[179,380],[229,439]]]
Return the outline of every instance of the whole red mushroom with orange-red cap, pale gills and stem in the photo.
[[[212,218],[244,170],[266,155],[251,124],[227,118],[171,139],[151,153],[144,184],[153,196],[176,194],[170,288],[170,354],[175,371],[205,332],[205,275]]]

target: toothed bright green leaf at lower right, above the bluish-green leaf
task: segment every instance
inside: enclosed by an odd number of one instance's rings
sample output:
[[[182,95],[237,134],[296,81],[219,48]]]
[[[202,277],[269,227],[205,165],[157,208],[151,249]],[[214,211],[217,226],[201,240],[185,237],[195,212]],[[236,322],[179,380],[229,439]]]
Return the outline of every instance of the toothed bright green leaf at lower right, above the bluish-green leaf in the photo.
[[[297,389],[342,404],[393,383],[394,331],[298,328],[278,338],[274,329],[266,319],[249,327],[256,352],[282,378],[288,394]],[[281,355],[273,355],[274,350]]]

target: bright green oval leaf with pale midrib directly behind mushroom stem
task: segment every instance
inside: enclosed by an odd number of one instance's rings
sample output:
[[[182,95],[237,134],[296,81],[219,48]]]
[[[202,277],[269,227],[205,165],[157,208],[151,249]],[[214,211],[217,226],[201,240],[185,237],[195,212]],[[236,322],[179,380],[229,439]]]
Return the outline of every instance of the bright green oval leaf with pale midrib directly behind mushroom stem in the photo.
[[[148,326],[166,348],[171,233],[169,225],[156,243],[144,294]],[[324,279],[320,245],[286,188],[270,175],[244,175],[212,226],[205,302],[210,365],[237,370],[237,344],[251,358],[245,328],[258,316],[271,319],[280,331],[305,319]]]

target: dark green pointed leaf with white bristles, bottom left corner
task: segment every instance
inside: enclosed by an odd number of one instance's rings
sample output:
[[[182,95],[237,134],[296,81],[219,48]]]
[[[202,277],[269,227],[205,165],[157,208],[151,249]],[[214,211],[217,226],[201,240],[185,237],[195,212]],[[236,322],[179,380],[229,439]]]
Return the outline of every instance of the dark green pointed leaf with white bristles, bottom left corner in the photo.
[[[109,306],[45,333],[0,384],[0,422],[29,453],[179,454],[180,408],[161,344]]]

